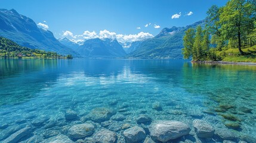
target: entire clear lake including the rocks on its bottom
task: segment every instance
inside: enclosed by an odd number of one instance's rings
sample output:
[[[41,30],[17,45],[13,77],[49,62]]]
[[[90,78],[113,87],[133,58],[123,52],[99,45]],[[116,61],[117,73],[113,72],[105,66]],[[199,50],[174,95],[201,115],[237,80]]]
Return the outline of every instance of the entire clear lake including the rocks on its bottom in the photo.
[[[255,66],[0,63],[0,142],[256,142]]]

